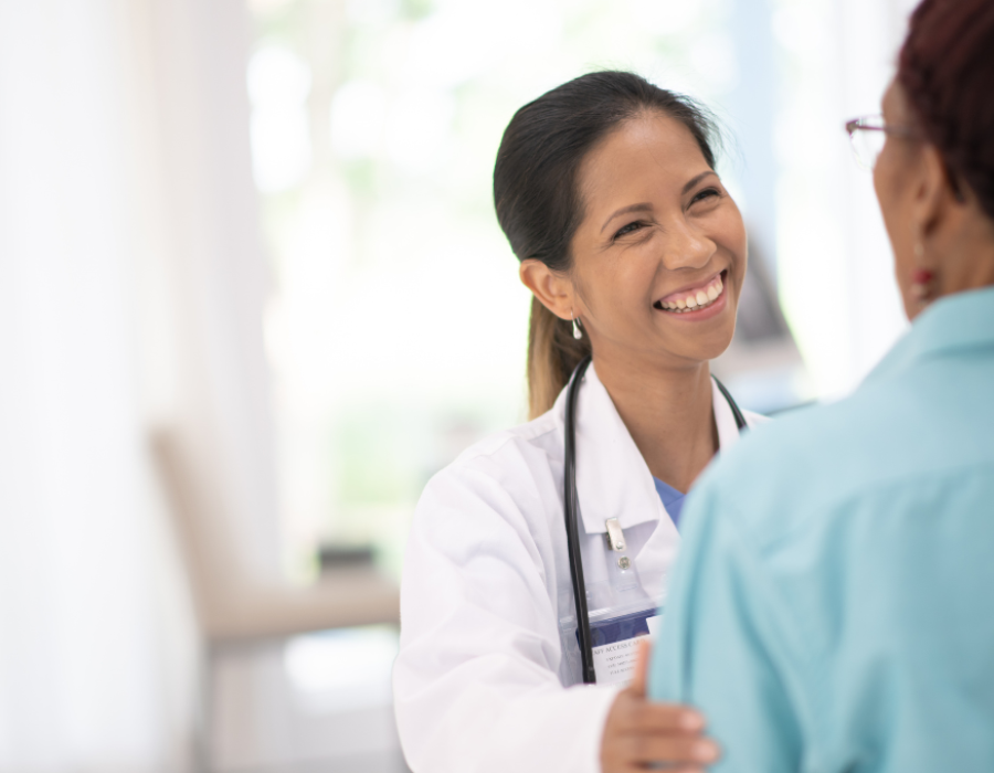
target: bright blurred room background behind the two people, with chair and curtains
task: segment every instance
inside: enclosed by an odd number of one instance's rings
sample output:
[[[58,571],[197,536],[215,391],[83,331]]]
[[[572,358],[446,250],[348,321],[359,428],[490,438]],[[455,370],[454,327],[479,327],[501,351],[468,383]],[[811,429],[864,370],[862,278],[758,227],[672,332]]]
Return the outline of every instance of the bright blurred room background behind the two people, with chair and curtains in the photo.
[[[514,112],[707,104],[751,275],[715,368],[845,394],[903,330],[846,118],[910,0],[0,0],[0,771],[404,771],[427,478],[525,419]]]

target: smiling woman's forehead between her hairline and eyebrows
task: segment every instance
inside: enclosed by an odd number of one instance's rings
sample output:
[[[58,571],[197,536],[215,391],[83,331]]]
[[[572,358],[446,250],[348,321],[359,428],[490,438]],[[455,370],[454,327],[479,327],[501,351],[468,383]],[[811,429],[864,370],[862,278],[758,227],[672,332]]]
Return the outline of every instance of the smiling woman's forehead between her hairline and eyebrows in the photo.
[[[618,198],[670,194],[709,169],[689,129],[678,120],[648,113],[624,121],[583,159],[578,187],[592,210],[618,204]],[[631,203],[631,202],[621,202]]]

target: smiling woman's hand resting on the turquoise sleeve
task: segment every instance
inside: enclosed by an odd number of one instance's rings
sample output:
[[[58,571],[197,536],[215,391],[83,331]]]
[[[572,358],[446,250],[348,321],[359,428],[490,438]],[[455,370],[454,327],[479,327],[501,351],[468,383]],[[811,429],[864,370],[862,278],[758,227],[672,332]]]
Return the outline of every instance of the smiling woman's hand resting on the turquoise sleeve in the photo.
[[[718,759],[718,745],[704,738],[704,717],[686,706],[651,703],[645,698],[648,636],[638,643],[635,678],[617,693],[601,740],[603,773],[644,771],[665,762],[672,771],[691,773]]]

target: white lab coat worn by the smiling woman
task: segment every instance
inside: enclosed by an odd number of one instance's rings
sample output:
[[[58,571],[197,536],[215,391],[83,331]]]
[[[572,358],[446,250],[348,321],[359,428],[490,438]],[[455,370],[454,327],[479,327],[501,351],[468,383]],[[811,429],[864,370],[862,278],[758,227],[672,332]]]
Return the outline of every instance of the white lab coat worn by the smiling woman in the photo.
[[[722,449],[739,440],[712,384]],[[616,686],[577,685],[562,507],[565,390],[528,424],[435,475],[417,505],[401,585],[396,723],[414,773],[598,773]],[[745,414],[751,426],[761,416]],[[577,489],[588,586],[617,518],[646,596],[665,599],[679,536],[591,366],[577,404]],[[601,558],[598,561],[598,552]]]

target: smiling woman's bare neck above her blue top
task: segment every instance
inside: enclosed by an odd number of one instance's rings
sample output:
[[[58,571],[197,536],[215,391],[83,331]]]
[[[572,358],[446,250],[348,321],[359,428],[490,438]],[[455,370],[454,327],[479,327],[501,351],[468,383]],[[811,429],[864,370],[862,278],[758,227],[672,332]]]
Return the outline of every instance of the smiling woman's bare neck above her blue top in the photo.
[[[595,353],[594,367],[649,472],[689,490],[718,451],[708,362],[647,367]]]

